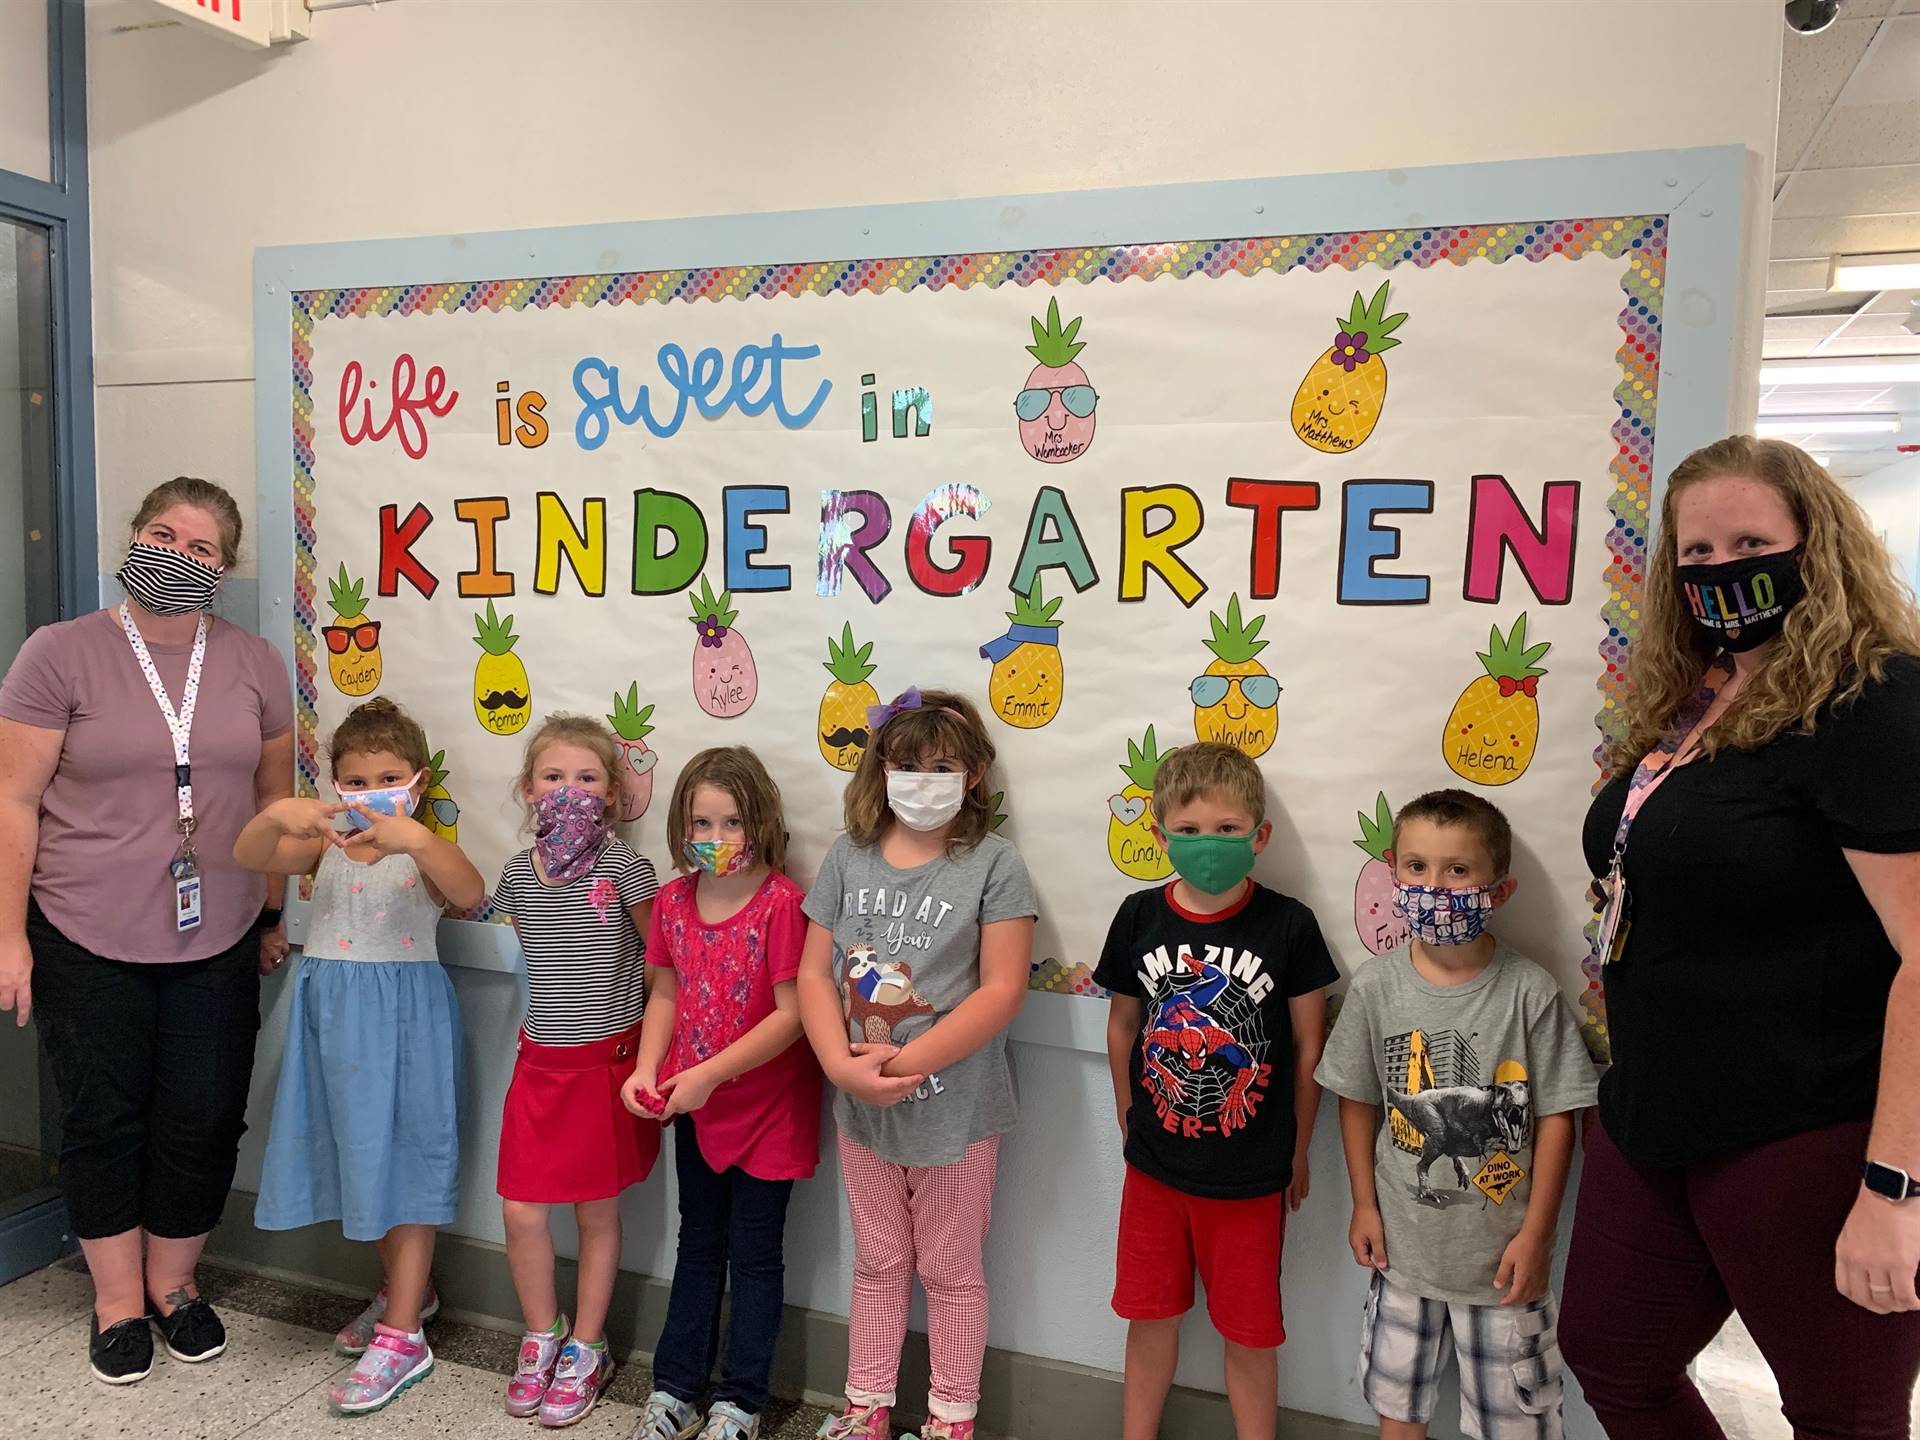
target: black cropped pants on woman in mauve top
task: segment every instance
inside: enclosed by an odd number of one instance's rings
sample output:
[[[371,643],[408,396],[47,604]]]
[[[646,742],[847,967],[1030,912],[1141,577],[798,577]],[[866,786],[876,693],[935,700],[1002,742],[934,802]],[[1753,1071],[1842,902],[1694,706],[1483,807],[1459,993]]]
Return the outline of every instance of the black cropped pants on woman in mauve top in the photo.
[[[259,935],[207,960],[102,960],[27,910],[73,1233],[205,1235],[227,1206],[259,1035]]]

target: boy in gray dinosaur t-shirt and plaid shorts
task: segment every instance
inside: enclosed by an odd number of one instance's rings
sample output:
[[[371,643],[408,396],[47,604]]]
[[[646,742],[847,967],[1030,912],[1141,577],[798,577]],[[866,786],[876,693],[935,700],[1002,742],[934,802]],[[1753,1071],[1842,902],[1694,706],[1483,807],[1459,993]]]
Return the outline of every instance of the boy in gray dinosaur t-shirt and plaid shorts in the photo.
[[[1513,895],[1511,856],[1507,818],[1478,795],[1400,812],[1394,904],[1411,939],[1354,975],[1315,1079],[1340,1096],[1348,1242],[1375,1271],[1361,1396],[1382,1421],[1427,1425],[1452,1331],[1461,1427],[1551,1440],[1553,1231],[1572,1112],[1596,1083],[1551,975],[1486,931]]]

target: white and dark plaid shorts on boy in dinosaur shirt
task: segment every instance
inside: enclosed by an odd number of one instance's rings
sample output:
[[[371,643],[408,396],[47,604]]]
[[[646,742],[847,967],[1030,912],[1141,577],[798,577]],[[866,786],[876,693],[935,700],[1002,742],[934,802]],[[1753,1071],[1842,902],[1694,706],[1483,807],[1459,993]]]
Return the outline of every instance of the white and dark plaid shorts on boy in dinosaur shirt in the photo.
[[[1459,1428],[1473,1440],[1561,1440],[1553,1296],[1530,1306],[1455,1306],[1373,1277],[1359,1338],[1359,1394],[1390,1421],[1427,1425],[1446,1338],[1459,1357]]]

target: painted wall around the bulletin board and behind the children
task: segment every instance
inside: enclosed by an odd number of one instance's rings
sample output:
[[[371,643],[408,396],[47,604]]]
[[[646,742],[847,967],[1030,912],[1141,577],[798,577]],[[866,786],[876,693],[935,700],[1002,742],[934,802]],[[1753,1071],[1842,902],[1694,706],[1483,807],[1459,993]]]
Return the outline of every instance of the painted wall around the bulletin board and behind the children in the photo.
[[[88,6],[104,568],[161,476],[252,499],[255,246],[1722,142],[1770,177],[1780,75],[1776,0],[394,0],[321,13],[309,44],[273,56],[117,29],[144,15]],[[1766,253],[1764,192],[1751,255]],[[1740,357],[1755,371],[1761,284],[1745,276]],[[1751,409],[1749,390],[1730,428]],[[465,972],[459,987],[468,1035],[511,1035],[511,981]],[[488,1121],[505,1071],[472,1048],[457,1229],[497,1238]],[[276,1054],[269,1031],[242,1185]],[[1039,1046],[1018,1062],[991,1338],[1117,1369],[1104,1066]],[[795,1200],[797,1304],[845,1313],[841,1210],[831,1167]],[[630,1196],[630,1265],[666,1273],[670,1213],[664,1179]],[[1363,1277],[1344,1235],[1327,1106],[1315,1194],[1288,1236],[1281,1392],[1359,1421]],[[1183,1382],[1217,1390],[1204,1319],[1187,1340]],[[1584,1411],[1571,1427],[1597,1436]],[[1436,1432],[1457,1434],[1450,1417]]]

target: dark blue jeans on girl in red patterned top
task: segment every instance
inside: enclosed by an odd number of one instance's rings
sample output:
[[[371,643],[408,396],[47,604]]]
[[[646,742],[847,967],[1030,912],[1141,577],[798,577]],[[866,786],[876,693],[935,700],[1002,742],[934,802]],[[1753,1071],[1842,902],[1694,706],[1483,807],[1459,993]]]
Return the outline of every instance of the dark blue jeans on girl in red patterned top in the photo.
[[[732,1271],[726,1365],[714,1400],[758,1415],[766,1407],[774,1340],[787,1302],[783,1242],[793,1181],[760,1181],[739,1165],[716,1175],[693,1127],[693,1116],[674,1121],[680,1258],[666,1325],[653,1350],[653,1388],[699,1404],[720,1357],[720,1294]]]

